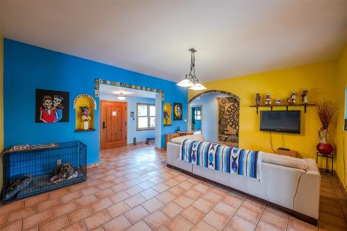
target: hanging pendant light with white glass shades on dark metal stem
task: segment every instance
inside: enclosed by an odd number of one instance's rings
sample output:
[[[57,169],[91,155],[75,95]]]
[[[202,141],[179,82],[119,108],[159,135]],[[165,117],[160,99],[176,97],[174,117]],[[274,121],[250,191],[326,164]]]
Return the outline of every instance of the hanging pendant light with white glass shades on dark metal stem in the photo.
[[[191,52],[190,72],[189,72],[189,74],[186,74],[185,78],[182,81],[180,81],[180,83],[177,83],[177,85],[180,87],[189,87],[189,89],[196,90],[196,91],[207,89],[206,87],[204,87],[203,85],[198,83],[198,78],[195,76],[195,52],[196,52],[196,49],[191,48],[191,49],[189,49],[189,51]]]

